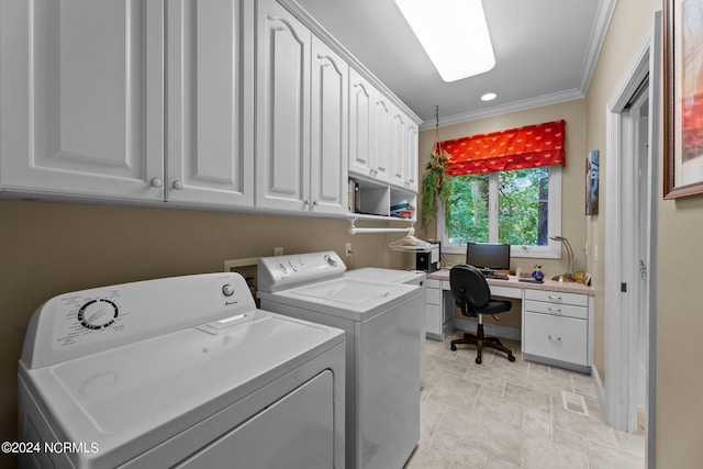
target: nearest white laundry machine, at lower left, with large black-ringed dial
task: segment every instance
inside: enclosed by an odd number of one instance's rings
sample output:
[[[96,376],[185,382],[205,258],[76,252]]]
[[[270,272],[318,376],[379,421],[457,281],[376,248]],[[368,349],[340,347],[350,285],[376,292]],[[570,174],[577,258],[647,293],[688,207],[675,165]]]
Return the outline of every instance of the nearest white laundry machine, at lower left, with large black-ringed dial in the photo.
[[[21,465],[342,468],[344,346],[238,273],[55,297],[19,362]]]

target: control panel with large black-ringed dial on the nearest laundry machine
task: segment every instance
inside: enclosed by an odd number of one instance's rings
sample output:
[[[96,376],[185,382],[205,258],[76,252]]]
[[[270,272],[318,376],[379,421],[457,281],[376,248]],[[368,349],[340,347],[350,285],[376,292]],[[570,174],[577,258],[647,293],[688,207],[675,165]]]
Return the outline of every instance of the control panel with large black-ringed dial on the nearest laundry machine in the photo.
[[[34,312],[22,360],[29,368],[52,365],[255,310],[246,281],[235,272],[65,293]]]

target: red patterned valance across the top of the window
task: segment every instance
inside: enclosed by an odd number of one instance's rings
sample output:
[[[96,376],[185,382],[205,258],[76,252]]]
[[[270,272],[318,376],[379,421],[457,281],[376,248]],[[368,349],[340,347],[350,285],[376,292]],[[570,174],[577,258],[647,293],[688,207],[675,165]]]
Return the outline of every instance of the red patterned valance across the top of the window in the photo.
[[[566,166],[565,121],[478,134],[439,143],[447,152],[446,174],[464,176],[538,166]]]

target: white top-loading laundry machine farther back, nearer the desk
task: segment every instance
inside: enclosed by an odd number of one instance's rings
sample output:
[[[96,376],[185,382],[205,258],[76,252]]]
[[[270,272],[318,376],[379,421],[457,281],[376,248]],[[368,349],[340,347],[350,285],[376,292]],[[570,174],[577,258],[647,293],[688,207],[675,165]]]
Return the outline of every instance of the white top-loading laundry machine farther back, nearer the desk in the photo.
[[[347,468],[400,469],[420,440],[420,288],[345,270],[334,252],[260,258],[257,295],[345,331]]]

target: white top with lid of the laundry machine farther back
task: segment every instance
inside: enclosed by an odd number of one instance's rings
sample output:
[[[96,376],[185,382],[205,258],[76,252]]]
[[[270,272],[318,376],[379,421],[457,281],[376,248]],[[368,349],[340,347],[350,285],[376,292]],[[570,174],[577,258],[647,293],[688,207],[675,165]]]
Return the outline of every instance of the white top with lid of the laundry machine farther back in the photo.
[[[419,292],[417,287],[410,284],[341,278],[278,293],[258,292],[258,295],[263,300],[365,321]]]

